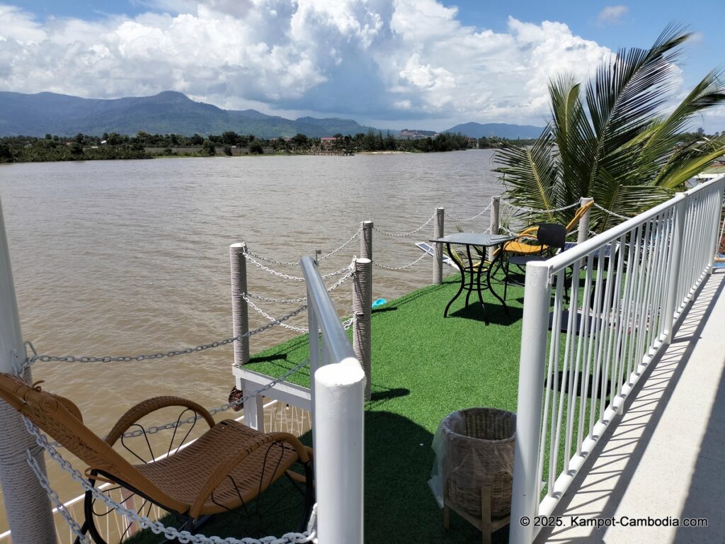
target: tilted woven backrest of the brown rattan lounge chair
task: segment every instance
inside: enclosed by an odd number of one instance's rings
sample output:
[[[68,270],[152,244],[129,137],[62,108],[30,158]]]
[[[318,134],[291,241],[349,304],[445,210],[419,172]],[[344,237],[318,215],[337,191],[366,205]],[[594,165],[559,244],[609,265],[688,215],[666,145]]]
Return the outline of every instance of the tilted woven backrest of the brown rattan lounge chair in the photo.
[[[67,398],[42,391],[38,385],[33,387],[18,376],[2,373],[0,397],[91,469],[104,471],[146,495],[164,495],[105,440],[88,429],[78,407]]]

